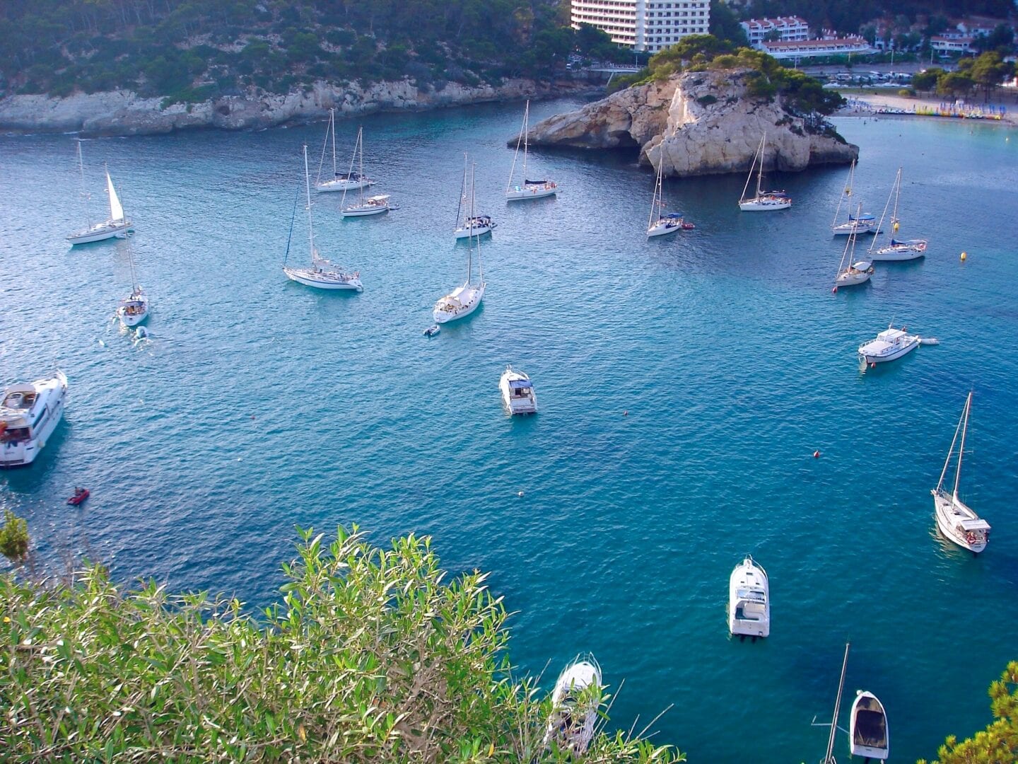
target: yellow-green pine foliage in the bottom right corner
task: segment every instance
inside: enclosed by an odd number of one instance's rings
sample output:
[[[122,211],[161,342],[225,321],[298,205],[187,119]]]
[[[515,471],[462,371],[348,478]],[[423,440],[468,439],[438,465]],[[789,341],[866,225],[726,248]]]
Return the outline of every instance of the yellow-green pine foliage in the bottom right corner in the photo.
[[[932,764],[1014,764],[1018,761],[1018,661],[1011,661],[989,686],[994,719],[984,730],[961,743],[950,735]],[[926,764],[925,759],[918,764]]]

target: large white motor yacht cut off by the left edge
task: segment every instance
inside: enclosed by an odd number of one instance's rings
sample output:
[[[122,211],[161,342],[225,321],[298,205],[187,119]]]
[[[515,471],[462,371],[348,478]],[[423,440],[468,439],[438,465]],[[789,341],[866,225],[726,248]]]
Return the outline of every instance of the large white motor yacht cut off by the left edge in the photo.
[[[0,467],[20,467],[35,460],[60,424],[66,398],[67,377],[63,372],[4,388],[0,402]]]

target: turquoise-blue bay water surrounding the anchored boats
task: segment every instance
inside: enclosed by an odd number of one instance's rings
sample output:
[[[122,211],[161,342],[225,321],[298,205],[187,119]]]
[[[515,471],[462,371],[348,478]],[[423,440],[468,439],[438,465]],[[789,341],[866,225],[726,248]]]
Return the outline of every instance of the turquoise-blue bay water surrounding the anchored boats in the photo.
[[[252,604],[276,596],[295,524],[431,534],[449,570],[492,571],[523,670],[547,665],[550,687],[591,651],[624,680],[613,723],[672,706],[656,740],[690,761],[818,760],[810,720],[830,717],[849,639],[842,723],[855,689],[875,693],[894,760],[983,726],[1018,657],[1018,134],[840,121],[861,147],[854,198],[879,215],[903,165],[901,235],[930,244],[832,294],[845,168],[774,178],[795,205],[759,215],[735,205],[741,176],[671,180],[696,229],[647,241],[654,179],[629,155],[531,154],[558,198],[505,204],[521,108],[364,120],[374,190],[400,209],[344,221],[339,195],[315,200],[323,254],[360,270],[361,294],[280,270],[300,145],[317,163],[324,124],[86,142],[93,209],[108,162],[135,221],[153,301],[136,344],[110,321],[125,242],[63,238],[82,220],[72,138],[0,138],[0,378],[70,380],[40,459],[0,474],[0,507],[44,553],[76,538],[122,581]],[[337,129],[345,157],[356,124]],[[465,271],[464,151],[499,224],[488,292],[428,340]],[[892,320],[942,343],[860,374],[855,348]],[[503,414],[507,363],[538,416]],[[994,527],[977,558],[938,537],[929,496],[969,388],[962,488]],[[93,492],[80,510],[74,485]],[[774,603],[755,644],[725,623],[746,552]]]

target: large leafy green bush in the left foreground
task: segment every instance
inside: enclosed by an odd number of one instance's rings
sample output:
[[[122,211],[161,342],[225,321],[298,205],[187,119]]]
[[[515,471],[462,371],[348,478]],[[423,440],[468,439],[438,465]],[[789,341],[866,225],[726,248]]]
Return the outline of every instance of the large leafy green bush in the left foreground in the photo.
[[[506,610],[430,540],[302,534],[281,603],[0,577],[4,761],[557,761],[548,699],[512,677]],[[683,761],[599,733],[585,761]]]

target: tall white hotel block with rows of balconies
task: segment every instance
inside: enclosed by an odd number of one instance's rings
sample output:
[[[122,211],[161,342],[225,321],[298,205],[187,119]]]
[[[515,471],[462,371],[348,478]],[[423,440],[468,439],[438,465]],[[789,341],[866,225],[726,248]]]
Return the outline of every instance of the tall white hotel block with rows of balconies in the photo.
[[[706,35],[710,0],[572,0],[572,28],[588,23],[635,50],[657,53],[688,35]]]

